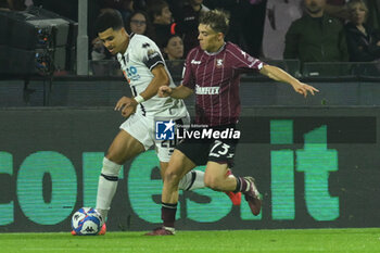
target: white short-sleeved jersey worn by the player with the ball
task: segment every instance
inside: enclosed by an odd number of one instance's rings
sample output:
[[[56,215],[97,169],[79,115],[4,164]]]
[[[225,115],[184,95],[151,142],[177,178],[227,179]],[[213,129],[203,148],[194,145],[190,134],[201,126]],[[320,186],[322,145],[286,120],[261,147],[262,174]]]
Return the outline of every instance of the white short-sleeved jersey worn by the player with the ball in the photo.
[[[163,64],[167,71],[159,47],[143,35],[131,34],[127,50],[124,54],[118,53],[117,60],[121,63],[122,71],[128,80],[134,97],[147,89],[154,77],[151,71],[156,65]],[[169,79],[169,86],[176,87],[170,74]],[[187,115],[187,109],[181,99],[154,96],[140,103],[136,113],[149,117],[179,118]]]

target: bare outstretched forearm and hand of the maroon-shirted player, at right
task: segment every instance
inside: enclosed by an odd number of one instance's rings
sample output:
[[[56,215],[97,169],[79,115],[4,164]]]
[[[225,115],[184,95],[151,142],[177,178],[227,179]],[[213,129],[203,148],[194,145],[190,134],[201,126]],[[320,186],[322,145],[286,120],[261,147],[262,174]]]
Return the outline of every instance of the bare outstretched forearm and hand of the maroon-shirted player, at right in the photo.
[[[277,66],[264,65],[259,73],[274,80],[291,85],[295,92],[303,94],[305,98],[308,92],[311,92],[312,94],[314,94],[314,92],[319,92],[318,89],[314,88],[313,86],[301,83],[299,79],[292,77],[287,72],[282,71]]]

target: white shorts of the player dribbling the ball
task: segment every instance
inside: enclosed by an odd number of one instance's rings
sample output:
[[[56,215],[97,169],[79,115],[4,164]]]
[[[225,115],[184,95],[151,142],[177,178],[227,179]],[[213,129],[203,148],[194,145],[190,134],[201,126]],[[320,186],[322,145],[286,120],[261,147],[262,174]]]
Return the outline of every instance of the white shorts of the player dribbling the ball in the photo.
[[[173,121],[181,119],[183,125],[190,124],[189,114],[182,118],[176,118]],[[169,119],[167,119],[169,121]],[[174,148],[177,143],[175,140],[156,140],[155,139],[155,119],[153,117],[145,117],[141,114],[132,114],[121,125],[121,129],[127,131],[135,139],[137,139],[149,150],[155,144],[155,151],[161,162],[167,163],[170,160]]]

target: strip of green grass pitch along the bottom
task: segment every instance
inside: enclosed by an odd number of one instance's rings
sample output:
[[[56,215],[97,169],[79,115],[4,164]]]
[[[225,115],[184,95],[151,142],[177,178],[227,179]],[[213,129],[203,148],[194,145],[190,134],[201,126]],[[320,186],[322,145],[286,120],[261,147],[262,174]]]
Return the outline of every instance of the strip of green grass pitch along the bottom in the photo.
[[[378,228],[178,231],[169,237],[142,235],[0,233],[0,252],[380,252]]]

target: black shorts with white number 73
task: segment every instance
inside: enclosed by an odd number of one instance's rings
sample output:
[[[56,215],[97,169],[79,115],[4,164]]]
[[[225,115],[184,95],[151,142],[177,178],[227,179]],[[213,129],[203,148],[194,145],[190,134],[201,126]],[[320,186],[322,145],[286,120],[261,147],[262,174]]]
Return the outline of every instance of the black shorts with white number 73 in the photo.
[[[223,126],[223,128],[235,129],[235,125]],[[219,164],[228,164],[228,167],[233,167],[233,157],[237,139],[183,139],[176,147],[195,165],[206,165],[208,161]]]

